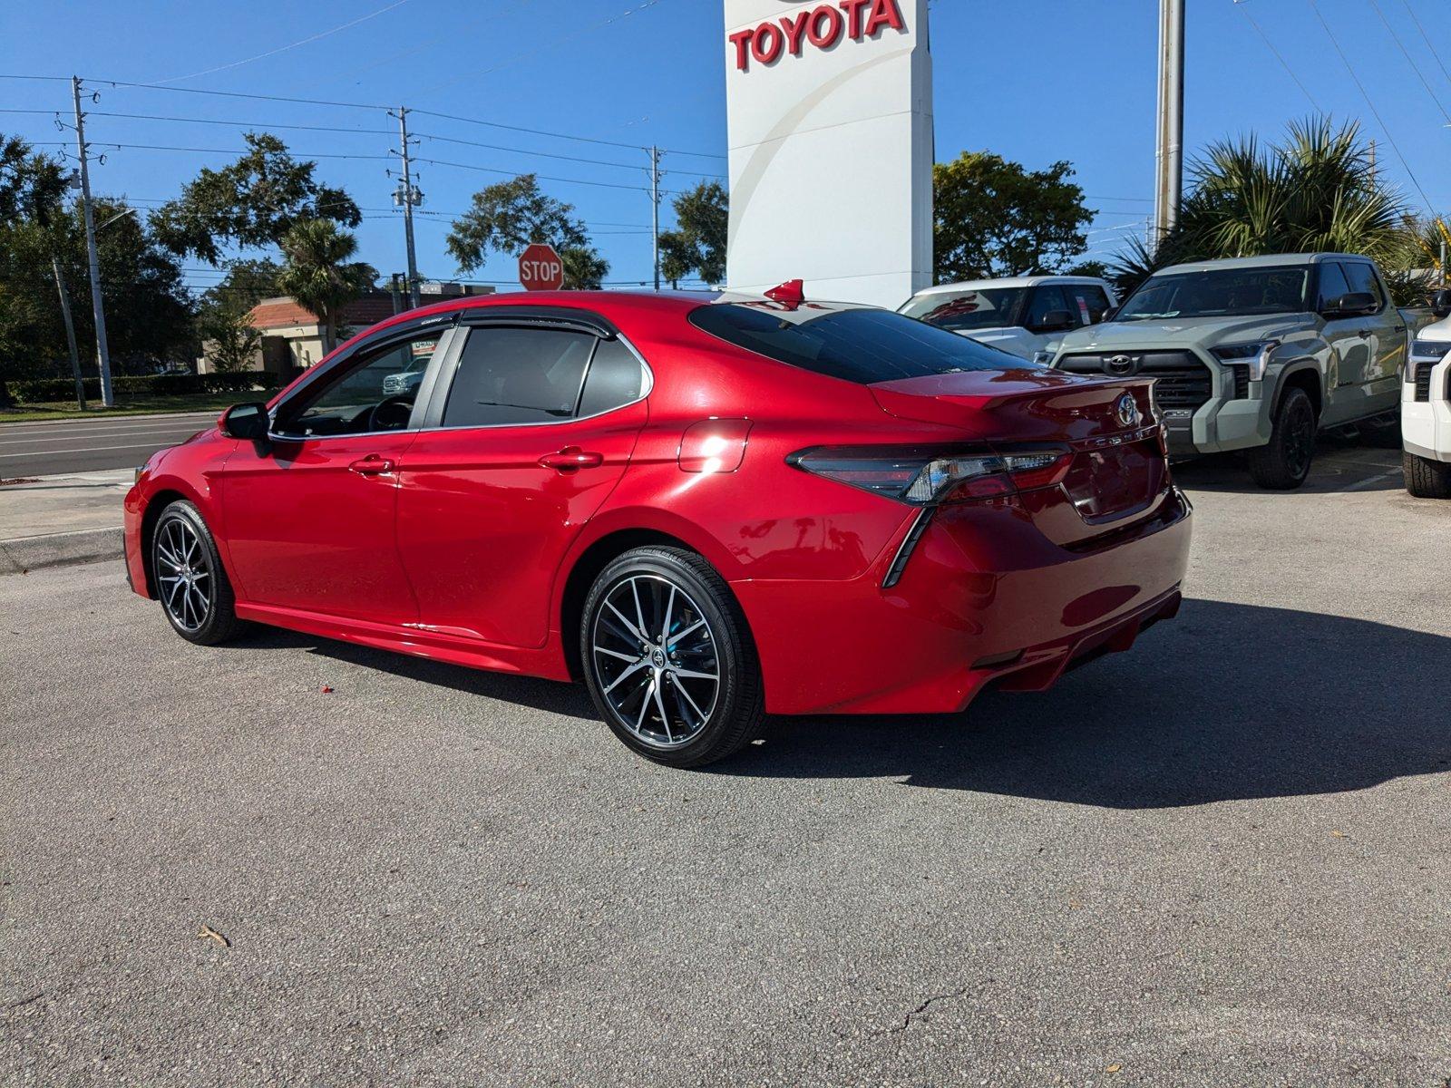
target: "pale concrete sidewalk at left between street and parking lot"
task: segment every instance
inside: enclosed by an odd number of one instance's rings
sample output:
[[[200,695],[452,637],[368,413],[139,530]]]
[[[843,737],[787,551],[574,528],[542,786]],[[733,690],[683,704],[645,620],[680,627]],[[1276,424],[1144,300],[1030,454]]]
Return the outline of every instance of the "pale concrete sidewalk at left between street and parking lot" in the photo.
[[[120,559],[131,469],[42,476],[0,486],[0,574]]]

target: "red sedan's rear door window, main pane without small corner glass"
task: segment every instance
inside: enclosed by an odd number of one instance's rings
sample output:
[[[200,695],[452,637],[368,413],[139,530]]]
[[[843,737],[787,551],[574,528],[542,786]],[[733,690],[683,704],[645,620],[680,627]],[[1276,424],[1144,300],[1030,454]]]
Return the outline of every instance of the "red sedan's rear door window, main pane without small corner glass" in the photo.
[[[444,406],[444,426],[506,426],[569,419],[598,339],[538,328],[469,331]]]

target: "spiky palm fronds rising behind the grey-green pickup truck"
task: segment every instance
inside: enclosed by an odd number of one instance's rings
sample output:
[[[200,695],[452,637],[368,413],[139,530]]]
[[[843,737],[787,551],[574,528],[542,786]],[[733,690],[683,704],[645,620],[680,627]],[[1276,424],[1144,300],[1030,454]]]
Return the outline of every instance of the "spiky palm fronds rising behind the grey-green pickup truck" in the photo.
[[[1152,250],[1135,241],[1119,254],[1120,287],[1168,264],[1275,252],[1358,252],[1387,270],[1407,267],[1412,221],[1376,176],[1355,123],[1296,123],[1270,147],[1255,136],[1212,144],[1188,173],[1174,231]]]

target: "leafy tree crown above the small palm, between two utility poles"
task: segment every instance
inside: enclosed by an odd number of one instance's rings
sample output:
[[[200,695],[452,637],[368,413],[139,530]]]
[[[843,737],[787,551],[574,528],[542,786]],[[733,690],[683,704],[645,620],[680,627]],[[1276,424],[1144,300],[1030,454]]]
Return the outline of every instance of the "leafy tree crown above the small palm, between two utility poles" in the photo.
[[[357,226],[363,215],[341,189],[313,177],[316,162],[299,162],[287,145],[266,132],[242,136],[248,151],[222,170],[203,167],[181,196],[151,213],[157,239],[184,257],[219,264],[219,244],[241,248],[280,245],[299,222],[332,219]]]

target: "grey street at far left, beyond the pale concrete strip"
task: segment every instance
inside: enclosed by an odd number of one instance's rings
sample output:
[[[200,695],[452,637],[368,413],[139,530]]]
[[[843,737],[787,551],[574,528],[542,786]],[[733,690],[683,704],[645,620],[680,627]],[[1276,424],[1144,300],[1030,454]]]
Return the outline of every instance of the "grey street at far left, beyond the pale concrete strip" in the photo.
[[[219,412],[0,424],[0,477],[126,469],[216,422]]]

